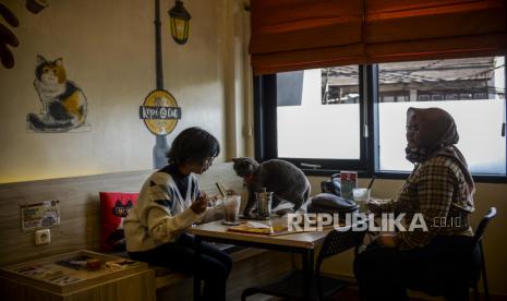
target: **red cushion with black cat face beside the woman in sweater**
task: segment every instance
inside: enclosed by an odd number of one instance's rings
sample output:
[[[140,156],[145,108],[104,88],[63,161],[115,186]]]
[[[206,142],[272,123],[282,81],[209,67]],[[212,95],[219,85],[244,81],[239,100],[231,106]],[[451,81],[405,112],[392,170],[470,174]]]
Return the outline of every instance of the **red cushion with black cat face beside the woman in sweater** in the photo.
[[[100,192],[100,249],[124,251],[123,218],[135,205],[138,193]]]

